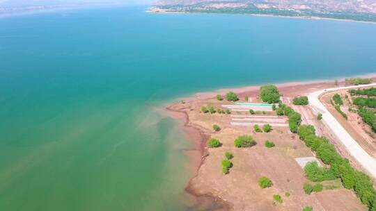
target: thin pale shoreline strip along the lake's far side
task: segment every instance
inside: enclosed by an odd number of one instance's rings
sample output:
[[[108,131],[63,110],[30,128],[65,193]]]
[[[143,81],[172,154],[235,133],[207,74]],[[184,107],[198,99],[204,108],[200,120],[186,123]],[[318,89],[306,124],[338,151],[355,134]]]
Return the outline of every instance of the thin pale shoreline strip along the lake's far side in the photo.
[[[160,8],[157,8],[160,9]],[[368,21],[357,21],[354,19],[339,19],[339,18],[330,18],[330,17],[318,17],[318,16],[291,16],[291,15],[272,15],[272,14],[256,14],[256,13],[226,13],[226,12],[189,12],[189,11],[163,11],[164,9],[160,10],[152,10],[152,8],[148,8],[146,12],[152,13],[161,13],[161,14],[217,14],[217,15],[249,15],[249,16],[257,16],[257,17],[282,17],[282,18],[293,18],[293,19],[313,19],[313,20],[332,20],[332,21],[340,21],[340,22],[356,22],[356,23],[365,23],[365,24],[376,24],[376,22],[368,22]]]

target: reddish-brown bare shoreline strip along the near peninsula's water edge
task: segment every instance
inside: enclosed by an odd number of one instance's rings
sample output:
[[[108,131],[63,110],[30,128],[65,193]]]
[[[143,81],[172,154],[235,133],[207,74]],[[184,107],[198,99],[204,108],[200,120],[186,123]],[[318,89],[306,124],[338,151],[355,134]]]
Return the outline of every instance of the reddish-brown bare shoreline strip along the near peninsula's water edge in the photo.
[[[357,76],[357,77],[370,77],[375,78],[376,74],[366,74],[363,76]],[[338,79],[338,83],[344,83],[345,78]],[[315,86],[324,86],[324,87],[333,87],[334,81],[332,80],[313,80],[313,81],[292,81],[288,83],[275,83],[277,87],[279,87],[280,90],[293,90],[293,92],[301,92],[302,90],[300,87],[305,87],[306,90],[315,89]],[[224,94],[228,92],[229,90],[235,92],[238,94],[238,96],[245,96],[254,92],[258,92],[260,85],[251,85],[251,86],[241,86],[241,87],[235,87],[233,89],[226,88],[226,89],[217,89],[210,92],[196,92],[194,95],[188,98],[181,98],[182,101],[202,101],[207,99],[213,99],[216,94]],[[297,89],[299,87],[299,89]],[[180,99],[180,98],[179,98]],[[213,210],[233,210],[233,204],[229,201],[226,201],[224,199],[221,199],[220,196],[215,196],[212,193],[201,193],[200,187],[194,187],[193,180],[198,176],[198,171],[202,167],[203,163],[205,162],[205,158],[207,157],[207,149],[205,147],[205,142],[208,138],[210,138],[210,134],[205,132],[205,128],[202,128],[201,126],[198,126],[196,124],[193,124],[189,120],[188,112],[185,110],[176,110],[173,108],[174,105],[178,105],[180,102],[175,103],[169,103],[165,109],[168,112],[171,112],[171,117],[174,117],[174,119],[179,119],[184,121],[183,124],[183,130],[190,131],[191,133],[196,134],[188,134],[188,140],[191,142],[194,142],[193,149],[189,149],[187,151],[196,151],[198,153],[199,158],[195,157],[194,155],[189,155],[191,159],[191,164],[193,164],[194,167],[194,176],[192,176],[187,186],[185,187],[185,191],[188,194],[191,194],[196,198],[196,201],[198,201],[198,204],[201,203],[201,201],[210,200],[213,204]],[[197,162],[195,162],[195,160]],[[198,162],[199,161],[199,162]]]

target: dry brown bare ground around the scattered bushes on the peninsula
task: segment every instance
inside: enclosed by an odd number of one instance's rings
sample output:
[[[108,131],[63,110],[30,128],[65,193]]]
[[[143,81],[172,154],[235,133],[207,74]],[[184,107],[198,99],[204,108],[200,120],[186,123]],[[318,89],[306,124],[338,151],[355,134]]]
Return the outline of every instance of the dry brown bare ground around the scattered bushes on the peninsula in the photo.
[[[280,91],[285,96],[297,96],[301,94],[301,90],[312,92],[330,86],[328,83],[318,83],[311,87],[295,85],[293,89],[280,87]],[[246,93],[240,94],[240,97],[248,95],[256,101],[257,90],[246,90]],[[220,104],[225,103],[228,102],[202,99],[179,103],[172,107],[173,110],[187,112],[189,125],[199,128],[211,137],[218,138],[223,143],[223,146],[217,149],[207,149],[207,156],[198,169],[198,174],[191,180],[189,186],[195,189],[197,194],[218,196],[228,201],[233,210],[301,210],[306,205],[313,206],[313,210],[366,210],[354,193],[343,187],[311,195],[304,194],[302,187],[308,180],[295,158],[313,156],[313,153],[296,135],[288,133],[288,128],[274,128],[271,133],[256,134],[251,127],[231,126],[229,115],[210,115],[200,112],[202,105],[213,105],[217,109]],[[319,128],[322,127],[319,121],[314,120],[315,115],[311,110],[301,109],[306,110],[307,118],[314,121]],[[242,113],[245,114],[246,112]],[[221,126],[222,130],[214,132],[213,124]],[[244,134],[252,135],[258,144],[248,149],[235,148],[233,141],[237,136]],[[265,140],[273,141],[276,146],[272,149],[266,148]],[[233,167],[228,175],[222,173],[221,167],[221,160],[225,158],[226,151],[234,155],[231,160]],[[274,185],[261,189],[258,186],[258,178],[261,176],[270,178]],[[338,183],[338,181],[329,183]],[[290,197],[286,197],[285,192],[290,192]],[[282,204],[273,201],[274,194],[282,196]]]

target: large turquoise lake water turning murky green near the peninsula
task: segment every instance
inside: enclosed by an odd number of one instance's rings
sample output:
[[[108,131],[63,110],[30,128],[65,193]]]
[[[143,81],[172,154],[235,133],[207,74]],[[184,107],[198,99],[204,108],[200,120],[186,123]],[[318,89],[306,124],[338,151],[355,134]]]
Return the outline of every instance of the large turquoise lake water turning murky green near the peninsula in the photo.
[[[0,210],[187,210],[163,105],[376,71],[375,24],[143,10],[0,19]]]

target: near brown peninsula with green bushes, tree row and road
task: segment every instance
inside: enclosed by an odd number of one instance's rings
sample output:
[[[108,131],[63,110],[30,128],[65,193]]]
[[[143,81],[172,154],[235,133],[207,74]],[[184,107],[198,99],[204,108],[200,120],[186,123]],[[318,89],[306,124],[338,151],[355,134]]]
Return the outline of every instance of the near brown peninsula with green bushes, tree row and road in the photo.
[[[375,132],[359,120],[363,107],[350,96],[375,89],[372,81],[219,90],[169,106],[200,134],[194,137],[201,161],[187,190],[198,198],[212,196],[220,210],[374,210]],[[343,103],[335,110],[338,92],[354,106]],[[354,134],[338,114],[348,122],[357,119],[361,131]],[[338,135],[334,129],[350,132]],[[357,147],[351,149],[347,139]]]

